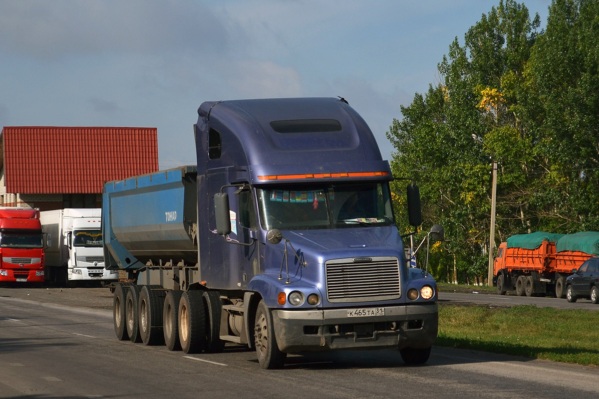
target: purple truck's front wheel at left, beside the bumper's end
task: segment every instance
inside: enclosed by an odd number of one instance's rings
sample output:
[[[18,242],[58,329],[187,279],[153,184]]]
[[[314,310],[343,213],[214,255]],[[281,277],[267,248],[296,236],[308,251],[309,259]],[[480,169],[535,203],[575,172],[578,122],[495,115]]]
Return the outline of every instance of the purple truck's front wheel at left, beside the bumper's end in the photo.
[[[280,368],[285,364],[286,353],[279,350],[274,336],[273,315],[264,300],[260,300],[254,321],[254,338],[258,363],[262,368]]]

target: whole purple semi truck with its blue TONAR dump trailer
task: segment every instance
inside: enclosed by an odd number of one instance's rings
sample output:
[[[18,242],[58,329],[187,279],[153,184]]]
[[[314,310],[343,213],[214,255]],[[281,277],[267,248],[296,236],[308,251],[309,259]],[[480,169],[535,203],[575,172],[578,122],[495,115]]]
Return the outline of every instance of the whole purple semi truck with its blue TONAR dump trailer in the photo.
[[[398,349],[425,363],[437,285],[409,267],[389,163],[344,99],[205,102],[197,165],[107,182],[102,233],[121,340],[192,352]],[[407,185],[419,225],[418,186]],[[123,273],[124,272],[124,273]],[[228,347],[227,347],[228,348]]]

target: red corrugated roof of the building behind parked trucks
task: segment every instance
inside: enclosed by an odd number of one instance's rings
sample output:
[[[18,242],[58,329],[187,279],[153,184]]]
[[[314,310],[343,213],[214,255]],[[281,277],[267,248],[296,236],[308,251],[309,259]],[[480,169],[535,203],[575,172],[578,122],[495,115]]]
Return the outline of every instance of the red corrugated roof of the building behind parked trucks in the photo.
[[[101,193],[105,181],[158,170],[155,127],[2,130],[7,193]]]

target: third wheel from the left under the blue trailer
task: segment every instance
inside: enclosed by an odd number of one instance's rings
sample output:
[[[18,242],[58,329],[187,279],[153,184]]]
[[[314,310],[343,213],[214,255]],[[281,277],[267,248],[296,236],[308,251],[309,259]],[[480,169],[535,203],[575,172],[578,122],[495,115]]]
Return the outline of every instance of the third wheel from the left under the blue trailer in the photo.
[[[162,287],[156,290],[144,285],[141,288],[138,325],[140,326],[141,342],[144,345],[162,345],[164,343],[162,309],[165,296],[166,293]]]

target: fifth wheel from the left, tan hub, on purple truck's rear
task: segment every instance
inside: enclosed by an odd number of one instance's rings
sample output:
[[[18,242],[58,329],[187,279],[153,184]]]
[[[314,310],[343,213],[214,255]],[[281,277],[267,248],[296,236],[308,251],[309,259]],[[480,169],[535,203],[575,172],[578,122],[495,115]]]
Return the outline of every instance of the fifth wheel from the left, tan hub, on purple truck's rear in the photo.
[[[202,291],[186,291],[181,295],[179,311],[179,341],[186,354],[204,349],[206,342],[206,314]]]

